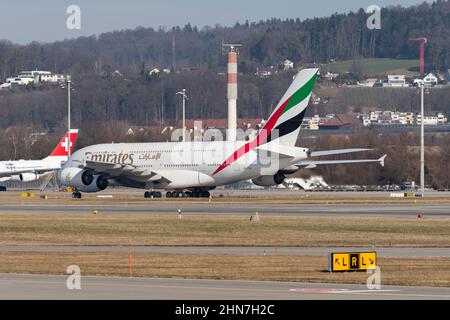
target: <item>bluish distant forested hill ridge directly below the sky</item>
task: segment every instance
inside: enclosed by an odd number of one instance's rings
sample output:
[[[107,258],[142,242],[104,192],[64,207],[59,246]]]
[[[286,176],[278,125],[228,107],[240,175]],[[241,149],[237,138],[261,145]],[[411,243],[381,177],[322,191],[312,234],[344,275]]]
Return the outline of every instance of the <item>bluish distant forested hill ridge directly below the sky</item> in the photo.
[[[325,63],[330,59],[417,58],[417,43],[410,37],[426,36],[427,65],[436,69],[450,65],[450,2],[438,0],[408,8],[383,8],[381,30],[366,27],[368,14],[360,9],[326,18],[271,19],[236,23],[234,27],[154,30],[137,28],[81,37],[51,44],[0,45],[0,75],[39,67],[60,73],[129,67],[141,64],[171,67],[224,67],[221,42],[242,43],[241,71],[261,64],[277,65],[286,58],[299,62]],[[173,55],[173,41],[175,54]]]

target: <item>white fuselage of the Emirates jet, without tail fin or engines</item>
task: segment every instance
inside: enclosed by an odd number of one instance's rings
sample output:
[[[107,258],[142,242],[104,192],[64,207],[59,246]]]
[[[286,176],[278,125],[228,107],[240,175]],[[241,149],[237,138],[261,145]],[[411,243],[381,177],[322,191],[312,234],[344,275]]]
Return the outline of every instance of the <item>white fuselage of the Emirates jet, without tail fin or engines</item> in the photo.
[[[130,170],[138,169],[141,173],[133,175],[132,172],[124,174],[120,171],[116,176],[110,174],[109,178],[130,187],[179,189],[215,187],[274,175],[300,159],[279,158],[272,154],[271,161],[268,161],[267,152],[245,148],[247,143],[211,141],[99,144],[76,151],[63,168],[82,168],[86,161],[129,165]],[[302,150],[302,158],[306,158],[307,150]]]

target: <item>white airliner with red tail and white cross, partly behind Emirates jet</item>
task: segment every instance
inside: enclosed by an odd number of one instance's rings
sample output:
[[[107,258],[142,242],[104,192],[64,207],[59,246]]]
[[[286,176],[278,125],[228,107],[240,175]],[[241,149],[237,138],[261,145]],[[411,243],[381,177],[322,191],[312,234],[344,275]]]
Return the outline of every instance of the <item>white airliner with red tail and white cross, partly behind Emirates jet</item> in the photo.
[[[78,129],[70,130],[70,149],[73,149]],[[61,169],[67,161],[69,135],[66,133],[50,155],[42,160],[0,161],[0,182],[34,181],[42,175]]]

